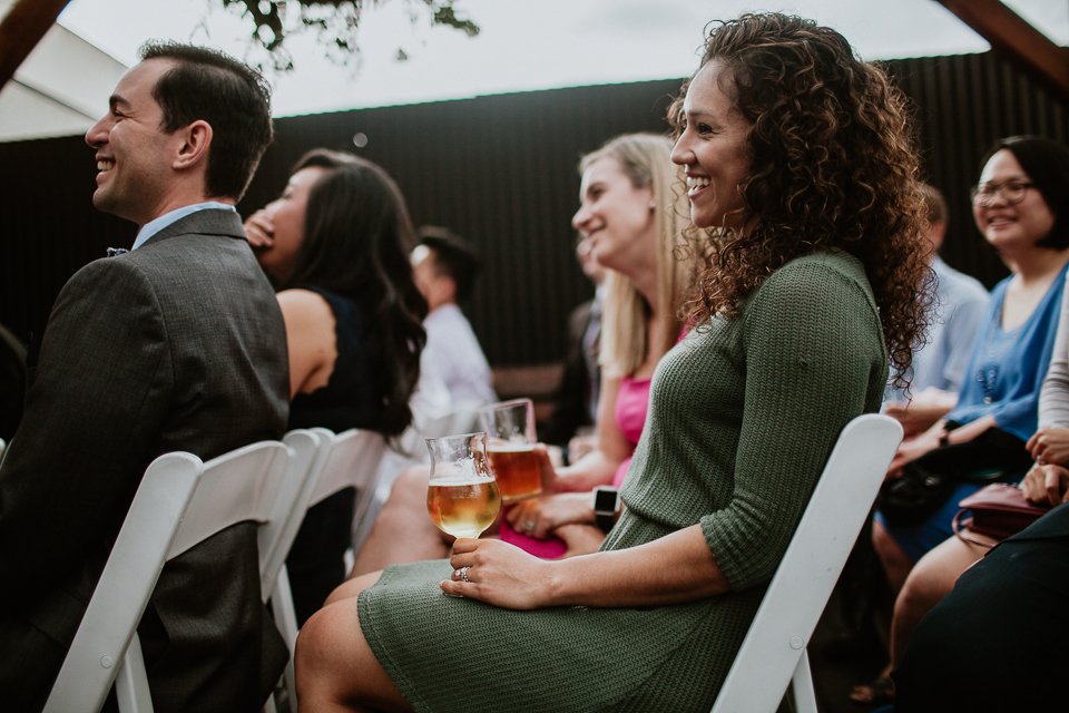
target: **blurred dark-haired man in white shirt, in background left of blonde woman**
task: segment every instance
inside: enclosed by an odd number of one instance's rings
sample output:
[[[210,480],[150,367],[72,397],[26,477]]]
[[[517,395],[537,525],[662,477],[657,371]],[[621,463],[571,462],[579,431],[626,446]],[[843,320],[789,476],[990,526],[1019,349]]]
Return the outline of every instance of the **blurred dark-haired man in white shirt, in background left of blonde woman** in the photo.
[[[471,246],[451,231],[420,228],[420,244],[412,251],[412,268],[415,284],[430,307],[423,321],[426,346],[421,361],[441,375],[453,409],[498,400],[491,385],[490,364],[458,304],[471,294],[480,266]]]

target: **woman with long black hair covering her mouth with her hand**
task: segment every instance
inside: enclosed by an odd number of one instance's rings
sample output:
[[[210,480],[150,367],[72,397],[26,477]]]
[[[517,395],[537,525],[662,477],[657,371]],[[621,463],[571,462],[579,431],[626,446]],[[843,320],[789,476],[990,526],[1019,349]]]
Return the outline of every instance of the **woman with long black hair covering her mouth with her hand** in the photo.
[[[245,229],[279,289],[290,428],[399,436],[412,420],[426,302],[412,280],[414,232],[396,184],[371,162],[314,150]],[[313,506],[294,540],[286,569],[300,624],[345,580],[353,495]]]

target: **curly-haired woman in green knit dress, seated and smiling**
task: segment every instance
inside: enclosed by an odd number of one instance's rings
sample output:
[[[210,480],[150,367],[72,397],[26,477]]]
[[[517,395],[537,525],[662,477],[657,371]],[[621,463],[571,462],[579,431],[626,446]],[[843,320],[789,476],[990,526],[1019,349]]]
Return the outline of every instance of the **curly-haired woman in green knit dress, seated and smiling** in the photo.
[[[705,267],[601,550],[459,539],[351,580],[297,642],[302,711],[712,705],[886,350],[909,364],[926,267],[906,114],[837,32],[722,25],[670,116]]]

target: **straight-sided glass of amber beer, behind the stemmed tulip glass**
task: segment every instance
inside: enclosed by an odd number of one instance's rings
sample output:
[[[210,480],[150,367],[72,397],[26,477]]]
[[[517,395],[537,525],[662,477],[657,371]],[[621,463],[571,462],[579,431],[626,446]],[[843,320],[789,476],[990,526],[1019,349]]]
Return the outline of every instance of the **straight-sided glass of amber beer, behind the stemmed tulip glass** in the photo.
[[[504,502],[516,502],[542,491],[534,455],[534,404],[516,399],[479,411],[479,428],[487,431],[487,455]]]

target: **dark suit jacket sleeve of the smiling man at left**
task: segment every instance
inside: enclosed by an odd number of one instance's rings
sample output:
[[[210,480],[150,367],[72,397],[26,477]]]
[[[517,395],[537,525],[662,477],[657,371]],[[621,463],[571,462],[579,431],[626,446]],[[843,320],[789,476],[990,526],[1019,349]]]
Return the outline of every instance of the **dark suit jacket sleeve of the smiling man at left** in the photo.
[[[0,469],[0,600],[32,599],[107,553],[169,398],[166,328],[129,261],[79,271],[57,299]]]

